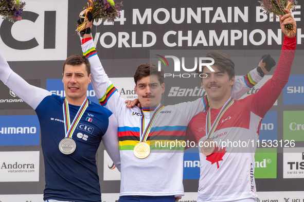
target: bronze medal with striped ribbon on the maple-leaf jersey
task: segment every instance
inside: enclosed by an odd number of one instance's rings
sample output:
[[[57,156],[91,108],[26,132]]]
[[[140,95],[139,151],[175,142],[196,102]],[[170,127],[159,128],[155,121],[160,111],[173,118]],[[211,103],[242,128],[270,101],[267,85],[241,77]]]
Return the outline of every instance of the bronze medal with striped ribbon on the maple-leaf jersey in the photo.
[[[233,103],[234,103],[234,99],[230,96],[228,101],[222,107],[220,113],[218,114],[216,120],[213,122],[212,126],[211,126],[211,116],[210,116],[211,107],[209,107],[208,112],[207,112],[207,118],[206,118],[206,137],[207,137],[207,139],[203,142],[203,146],[201,148],[203,155],[209,156],[216,149],[216,143],[210,138],[211,138],[213,132],[216,130],[216,128],[220,122],[220,119],[222,118],[224,113],[227,111],[227,109]]]

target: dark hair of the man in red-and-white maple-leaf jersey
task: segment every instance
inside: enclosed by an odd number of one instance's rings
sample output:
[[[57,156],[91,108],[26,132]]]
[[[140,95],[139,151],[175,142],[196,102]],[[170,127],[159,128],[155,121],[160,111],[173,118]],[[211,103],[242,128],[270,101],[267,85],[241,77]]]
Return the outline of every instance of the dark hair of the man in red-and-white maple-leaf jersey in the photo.
[[[227,72],[230,80],[235,76],[235,63],[231,60],[231,58],[227,54],[220,51],[211,51],[208,52],[205,57],[213,58],[214,60],[213,65],[216,66],[219,70],[223,72]],[[210,61],[206,61],[205,63],[208,62]],[[203,66],[202,71],[205,67],[206,66]],[[199,67],[196,68],[195,72],[196,74],[202,74],[202,72],[200,72],[199,70]]]

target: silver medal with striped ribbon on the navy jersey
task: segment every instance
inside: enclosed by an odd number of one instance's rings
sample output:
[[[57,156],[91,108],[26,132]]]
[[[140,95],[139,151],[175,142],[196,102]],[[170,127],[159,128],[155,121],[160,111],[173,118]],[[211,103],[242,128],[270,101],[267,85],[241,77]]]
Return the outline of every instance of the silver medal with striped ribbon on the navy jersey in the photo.
[[[69,155],[76,150],[76,142],[72,139],[72,136],[87,106],[88,106],[88,99],[86,98],[83,101],[82,105],[80,106],[73,122],[70,123],[68,102],[66,98],[64,99],[62,108],[63,108],[65,138],[61,140],[59,143],[59,150],[61,153]]]

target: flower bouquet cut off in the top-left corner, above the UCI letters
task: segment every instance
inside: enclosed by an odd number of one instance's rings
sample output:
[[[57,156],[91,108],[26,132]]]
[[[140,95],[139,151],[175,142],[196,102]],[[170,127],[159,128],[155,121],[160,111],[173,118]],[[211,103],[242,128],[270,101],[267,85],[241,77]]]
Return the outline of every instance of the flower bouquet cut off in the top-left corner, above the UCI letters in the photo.
[[[10,22],[21,21],[24,6],[25,2],[20,0],[0,0],[0,15],[2,15],[2,19],[7,19]]]

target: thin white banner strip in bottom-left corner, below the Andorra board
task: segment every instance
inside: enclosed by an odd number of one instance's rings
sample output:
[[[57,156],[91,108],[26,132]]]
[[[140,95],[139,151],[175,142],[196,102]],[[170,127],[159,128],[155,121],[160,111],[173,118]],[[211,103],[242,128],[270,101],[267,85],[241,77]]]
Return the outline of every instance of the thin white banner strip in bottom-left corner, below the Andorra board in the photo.
[[[0,195],[1,202],[44,202],[43,194]]]

